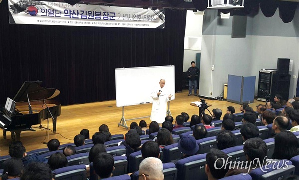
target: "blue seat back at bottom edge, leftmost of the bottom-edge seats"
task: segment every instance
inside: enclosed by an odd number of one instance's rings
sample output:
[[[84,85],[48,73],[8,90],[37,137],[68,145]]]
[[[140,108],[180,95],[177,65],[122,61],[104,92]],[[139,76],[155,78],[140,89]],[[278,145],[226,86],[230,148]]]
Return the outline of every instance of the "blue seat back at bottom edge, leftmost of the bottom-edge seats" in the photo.
[[[85,180],[86,166],[73,165],[54,170],[55,180]]]

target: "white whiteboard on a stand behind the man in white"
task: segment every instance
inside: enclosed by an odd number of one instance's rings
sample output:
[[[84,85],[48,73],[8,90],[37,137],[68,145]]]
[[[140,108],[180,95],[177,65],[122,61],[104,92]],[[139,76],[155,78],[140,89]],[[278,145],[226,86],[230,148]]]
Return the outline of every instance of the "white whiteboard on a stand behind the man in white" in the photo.
[[[153,66],[115,69],[116,106],[130,106],[152,103],[150,97],[160,79],[165,79],[165,86],[175,99],[174,66]]]

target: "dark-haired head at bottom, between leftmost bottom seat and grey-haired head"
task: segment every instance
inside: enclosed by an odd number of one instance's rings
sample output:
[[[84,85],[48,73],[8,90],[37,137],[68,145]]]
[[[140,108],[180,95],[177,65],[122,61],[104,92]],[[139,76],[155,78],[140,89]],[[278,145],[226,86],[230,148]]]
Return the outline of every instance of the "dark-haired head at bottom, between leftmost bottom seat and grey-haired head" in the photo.
[[[114,170],[114,159],[108,153],[100,153],[93,160],[94,172],[100,179],[109,178]]]

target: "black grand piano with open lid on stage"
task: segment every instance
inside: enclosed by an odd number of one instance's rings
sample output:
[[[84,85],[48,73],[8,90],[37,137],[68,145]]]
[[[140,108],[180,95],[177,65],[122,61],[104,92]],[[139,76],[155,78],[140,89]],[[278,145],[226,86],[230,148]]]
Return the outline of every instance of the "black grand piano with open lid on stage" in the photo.
[[[13,98],[16,103],[12,112],[3,106],[0,107],[0,128],[3,129],[4,139],[6,139],[6,131],[11,131],[11,138],[19,141],[21,131],[33,130],[32,125],[41,124],[43,120],[52,118],[52,116],[53,132],[56,133],[61,103],[52,98],[58,96],[60,91],[41,87],[41,83],[42,81],[24,82]]]

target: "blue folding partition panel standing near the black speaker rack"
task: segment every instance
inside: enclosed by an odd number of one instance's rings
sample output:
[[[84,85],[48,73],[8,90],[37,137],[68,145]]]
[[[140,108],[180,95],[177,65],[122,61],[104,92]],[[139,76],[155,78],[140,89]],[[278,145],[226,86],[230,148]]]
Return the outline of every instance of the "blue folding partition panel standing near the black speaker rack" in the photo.
[[[243,77],[228,75],[227,101],[233,103],[253,103],[255,76]]]

